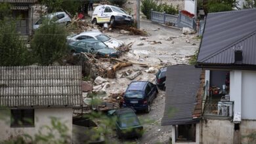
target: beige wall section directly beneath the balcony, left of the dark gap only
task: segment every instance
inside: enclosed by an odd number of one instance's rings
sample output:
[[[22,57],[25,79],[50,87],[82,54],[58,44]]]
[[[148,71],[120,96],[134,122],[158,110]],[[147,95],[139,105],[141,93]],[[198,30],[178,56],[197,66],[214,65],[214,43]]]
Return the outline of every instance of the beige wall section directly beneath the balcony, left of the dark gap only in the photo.
[[[233,143],[234,124],[229,120],[202,120],[202,143]]]

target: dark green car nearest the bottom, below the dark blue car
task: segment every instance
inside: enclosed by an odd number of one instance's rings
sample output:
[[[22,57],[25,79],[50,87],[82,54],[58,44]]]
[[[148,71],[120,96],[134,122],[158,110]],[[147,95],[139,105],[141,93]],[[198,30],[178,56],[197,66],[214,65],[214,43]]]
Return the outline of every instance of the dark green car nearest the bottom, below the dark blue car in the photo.
[[[112,110],[116,116],[116,133],[119,138],[141,137],[143,126],[131,108]]]

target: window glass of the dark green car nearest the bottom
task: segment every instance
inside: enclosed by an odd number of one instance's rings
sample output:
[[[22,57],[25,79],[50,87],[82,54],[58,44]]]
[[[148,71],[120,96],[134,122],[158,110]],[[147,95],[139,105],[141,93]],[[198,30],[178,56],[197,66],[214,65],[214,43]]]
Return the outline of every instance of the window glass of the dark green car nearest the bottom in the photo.
[[[120,123],[121,128],[127,128],[127,127],[131,127],[131,126],[139,126],[140,125],[137,116],[133,115],[133,114],[121,115],[119,120],[120,120],[119,123]]]

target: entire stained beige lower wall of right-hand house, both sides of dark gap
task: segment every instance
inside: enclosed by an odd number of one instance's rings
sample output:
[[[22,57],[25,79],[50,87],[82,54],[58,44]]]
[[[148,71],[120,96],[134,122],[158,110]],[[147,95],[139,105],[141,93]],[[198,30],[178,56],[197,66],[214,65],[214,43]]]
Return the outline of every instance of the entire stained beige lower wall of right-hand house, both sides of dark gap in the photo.
[[[230,120],[202,120],[201,121],[201,142],[202,143],[240,143],[234,141],[234,123]],[[256,143],[255,139],[250,139],[249,134],[256,134],[255,120],[242,120],[240,123],[241,143]]]

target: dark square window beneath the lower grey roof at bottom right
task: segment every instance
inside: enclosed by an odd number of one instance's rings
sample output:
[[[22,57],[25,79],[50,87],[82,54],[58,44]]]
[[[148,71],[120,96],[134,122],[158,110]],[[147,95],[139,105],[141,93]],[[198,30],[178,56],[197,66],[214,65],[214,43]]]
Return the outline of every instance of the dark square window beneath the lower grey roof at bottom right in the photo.
[[[176,142],[196,142],[196,124],[175,126]]]

